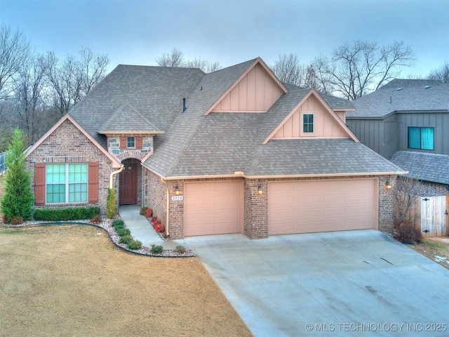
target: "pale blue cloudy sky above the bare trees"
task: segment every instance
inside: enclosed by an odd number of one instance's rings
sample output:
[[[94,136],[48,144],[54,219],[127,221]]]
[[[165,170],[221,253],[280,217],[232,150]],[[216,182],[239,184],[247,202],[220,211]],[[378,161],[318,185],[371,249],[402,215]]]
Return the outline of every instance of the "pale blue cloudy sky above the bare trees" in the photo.
[[[109,70],[156,65],[173,47],[223,66],[257,56],[272,65],[283,53],[308,62],[356,39],[409,44],[417,62],[402,77],[449,60],[449,0],[0,0],[0,22],[21,29],[39,53],[106,53]]]

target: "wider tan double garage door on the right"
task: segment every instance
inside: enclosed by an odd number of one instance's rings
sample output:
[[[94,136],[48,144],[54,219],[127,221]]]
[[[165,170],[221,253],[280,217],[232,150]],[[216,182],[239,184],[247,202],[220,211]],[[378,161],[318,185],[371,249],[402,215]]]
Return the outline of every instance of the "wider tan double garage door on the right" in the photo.
[[[269,183],[268,234],[377,229],[377,179]]]

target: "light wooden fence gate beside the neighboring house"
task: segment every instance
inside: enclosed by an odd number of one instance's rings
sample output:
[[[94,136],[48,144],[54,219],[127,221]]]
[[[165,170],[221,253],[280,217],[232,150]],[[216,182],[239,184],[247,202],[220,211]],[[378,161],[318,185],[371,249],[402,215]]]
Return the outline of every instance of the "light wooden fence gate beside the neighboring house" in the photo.
[[[420,228],[423,237],[444,237],[449,235],[449,196],[420,197],[417,199],[415,209],[420,210],[420,216],[415,223]]]

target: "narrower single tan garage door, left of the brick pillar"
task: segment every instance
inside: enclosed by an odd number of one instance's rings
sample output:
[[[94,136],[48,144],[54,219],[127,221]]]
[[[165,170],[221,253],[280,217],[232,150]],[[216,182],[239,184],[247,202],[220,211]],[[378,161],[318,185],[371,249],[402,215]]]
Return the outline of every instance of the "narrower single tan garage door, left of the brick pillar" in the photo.
[[[230,234],[243,228],[243,181],[186,183],[184,234]]]

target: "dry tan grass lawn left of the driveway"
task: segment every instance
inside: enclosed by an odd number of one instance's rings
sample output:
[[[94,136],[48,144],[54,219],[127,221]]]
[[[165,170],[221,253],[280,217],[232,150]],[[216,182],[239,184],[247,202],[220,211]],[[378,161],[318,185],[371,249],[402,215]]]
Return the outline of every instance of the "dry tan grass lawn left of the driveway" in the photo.
[[[124,253],[80,225],[0,226],[0,256],[0,336],[251,336],[197,258]]]

